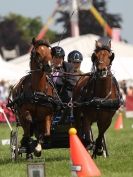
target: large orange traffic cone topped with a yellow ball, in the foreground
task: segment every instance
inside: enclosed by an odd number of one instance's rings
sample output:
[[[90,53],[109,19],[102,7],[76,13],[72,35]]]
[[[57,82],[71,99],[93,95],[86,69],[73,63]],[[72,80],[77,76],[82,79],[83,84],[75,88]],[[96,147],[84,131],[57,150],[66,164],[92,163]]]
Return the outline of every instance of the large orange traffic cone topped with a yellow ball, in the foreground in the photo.
[[[77,130],[70,128],[70,156],[72,160],[72,174],[78,177],[97,177],[101,172],[93,159],[76,135]]]

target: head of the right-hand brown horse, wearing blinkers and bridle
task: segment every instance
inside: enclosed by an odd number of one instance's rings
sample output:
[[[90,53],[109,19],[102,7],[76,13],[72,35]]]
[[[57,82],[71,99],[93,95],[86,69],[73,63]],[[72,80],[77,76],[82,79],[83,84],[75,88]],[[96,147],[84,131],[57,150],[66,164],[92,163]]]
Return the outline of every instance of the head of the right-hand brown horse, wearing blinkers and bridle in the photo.
[[[114,53],[111,51],[111,40],[103,37],[96,41],[96,48],[91,59],[98,75],[106,77],[114,59]]]

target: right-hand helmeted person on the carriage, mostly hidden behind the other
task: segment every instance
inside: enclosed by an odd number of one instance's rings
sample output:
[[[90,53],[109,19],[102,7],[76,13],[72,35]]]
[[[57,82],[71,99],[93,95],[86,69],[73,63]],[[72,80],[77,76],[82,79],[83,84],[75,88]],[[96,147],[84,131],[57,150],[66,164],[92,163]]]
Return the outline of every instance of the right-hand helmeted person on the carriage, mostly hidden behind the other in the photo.
[[[83,72],[80,70],[81,63],[83,61],[83,55],[79,51],[73,50],[68,54],[67,61],[74,65],[74,73],[77,74],[76,80],[78,81],[81,77],[80,75],[83,74]]]

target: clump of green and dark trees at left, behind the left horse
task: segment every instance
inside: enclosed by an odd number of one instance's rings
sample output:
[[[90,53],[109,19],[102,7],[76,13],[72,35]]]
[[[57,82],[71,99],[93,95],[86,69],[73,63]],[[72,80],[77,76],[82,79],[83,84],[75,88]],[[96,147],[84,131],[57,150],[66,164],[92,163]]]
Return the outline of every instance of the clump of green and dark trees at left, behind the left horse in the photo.
[[[9,14],[0,19],[0,48],[14,49],[19,47],[20,55],[29,51],[33,37],[37,37],[43,23],[40,17],[27,18]],[[56,41],[56,32],[48,30],[46,37],[50,42]],[[0,51],[2,54],[2,51]]]

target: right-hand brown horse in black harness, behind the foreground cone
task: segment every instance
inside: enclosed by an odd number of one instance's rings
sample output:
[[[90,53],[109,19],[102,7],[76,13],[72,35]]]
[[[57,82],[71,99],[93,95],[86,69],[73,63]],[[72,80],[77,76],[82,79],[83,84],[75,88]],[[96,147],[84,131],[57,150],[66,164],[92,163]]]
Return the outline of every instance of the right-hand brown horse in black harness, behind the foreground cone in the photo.
[[[80,138],[93,148],[93,156],[103,154],[104,133],[109,128],[112,117],[121,104],[121,94],[117,81],[111,73],[114,54],[111,41],[101,38],[96,41],[92,54],[92,72],[82,76],[73,91],[76,128]],[[98,137],[95,145],[91,134],[93,122],[98,126]]]

